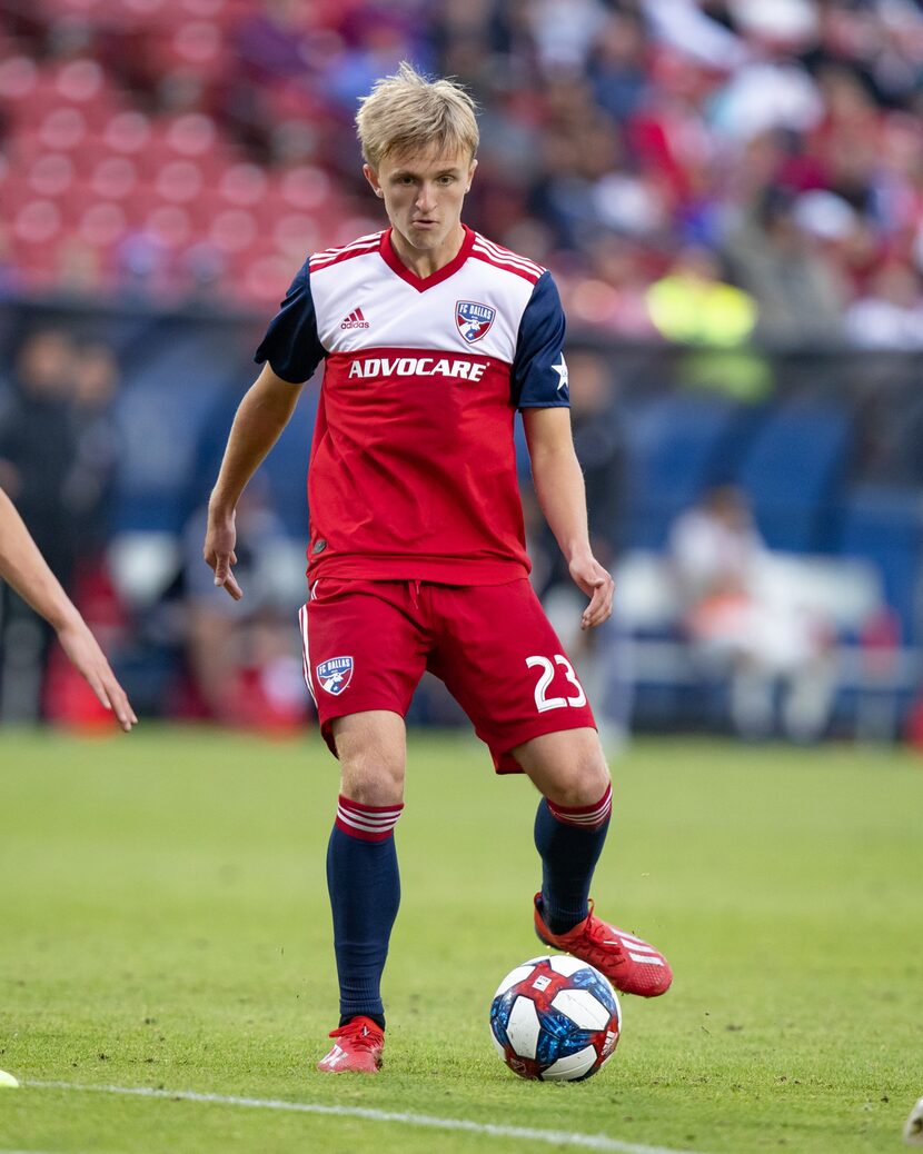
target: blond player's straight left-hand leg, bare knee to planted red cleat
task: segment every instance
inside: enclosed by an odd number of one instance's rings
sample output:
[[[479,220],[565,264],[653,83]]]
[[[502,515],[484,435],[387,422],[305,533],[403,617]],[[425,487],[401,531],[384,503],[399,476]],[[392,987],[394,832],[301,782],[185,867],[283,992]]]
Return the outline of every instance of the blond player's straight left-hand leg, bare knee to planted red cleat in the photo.
[[[381,977],[400,901],[393,827],[404,808],[405,728],[375,710],[332,722],[343,778],[327,853],[340,989],[336,1043],[320,1070],[373,1073],[384,1046]]]

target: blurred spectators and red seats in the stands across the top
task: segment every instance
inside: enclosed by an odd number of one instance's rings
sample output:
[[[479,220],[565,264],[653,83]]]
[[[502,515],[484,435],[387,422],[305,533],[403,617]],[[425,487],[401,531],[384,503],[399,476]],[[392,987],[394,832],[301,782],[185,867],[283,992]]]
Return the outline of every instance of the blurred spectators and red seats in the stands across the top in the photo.
[[[10,286],[278,299],[381,226],[357,98],[481,107],[468,219],[633,339],[923,344],[916,0],[37,0],[0,36]]]

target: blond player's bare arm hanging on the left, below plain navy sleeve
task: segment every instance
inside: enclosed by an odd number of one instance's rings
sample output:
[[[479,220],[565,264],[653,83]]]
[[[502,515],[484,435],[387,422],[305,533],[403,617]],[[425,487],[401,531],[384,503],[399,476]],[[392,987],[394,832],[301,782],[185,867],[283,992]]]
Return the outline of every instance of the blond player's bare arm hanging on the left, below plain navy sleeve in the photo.
[[[234,510],[247,482],[288,424],[300,392],[300,384],[284,381],[265,365],[247,390],[231,427],[218,480],[209,500],[202,552],[215,570],[215,584],[223,586],[235,601],[243,592],[232,571],[238,560]]]

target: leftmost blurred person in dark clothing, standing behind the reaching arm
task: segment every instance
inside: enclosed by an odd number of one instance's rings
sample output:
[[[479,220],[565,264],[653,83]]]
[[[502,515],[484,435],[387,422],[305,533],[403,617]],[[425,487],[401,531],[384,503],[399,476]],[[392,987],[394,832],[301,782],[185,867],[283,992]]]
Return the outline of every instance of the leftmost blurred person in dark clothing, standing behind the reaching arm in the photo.
[[[72,420],[74,346],[66,332],[39,329],[16,358],[13,390],[0,413],[0,485],[15,500],[65,591],[77,554],[68,479],[76,460]],[[42,711],[52,630],[12,590],[0,606],[0,715],[35,721]]]

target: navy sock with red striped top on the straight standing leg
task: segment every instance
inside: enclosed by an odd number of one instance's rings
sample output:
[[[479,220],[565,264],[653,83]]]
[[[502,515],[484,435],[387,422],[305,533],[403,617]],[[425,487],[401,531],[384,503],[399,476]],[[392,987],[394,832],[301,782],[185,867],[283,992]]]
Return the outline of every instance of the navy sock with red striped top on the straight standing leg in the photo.
[[[395,825],[403,805],[340,796],[327,848],[340,1026],[362,1014],[384,1028],[381,979],[400,904]]]

